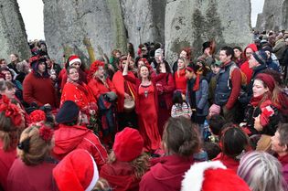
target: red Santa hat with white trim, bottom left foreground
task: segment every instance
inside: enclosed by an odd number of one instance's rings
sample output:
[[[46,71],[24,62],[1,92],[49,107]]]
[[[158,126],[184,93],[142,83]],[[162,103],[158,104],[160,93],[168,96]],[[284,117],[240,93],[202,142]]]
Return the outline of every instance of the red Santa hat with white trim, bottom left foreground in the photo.
[[[91,191],[99,179],[97,165],[86,150],[66,155],[53,169],[59,191]]]

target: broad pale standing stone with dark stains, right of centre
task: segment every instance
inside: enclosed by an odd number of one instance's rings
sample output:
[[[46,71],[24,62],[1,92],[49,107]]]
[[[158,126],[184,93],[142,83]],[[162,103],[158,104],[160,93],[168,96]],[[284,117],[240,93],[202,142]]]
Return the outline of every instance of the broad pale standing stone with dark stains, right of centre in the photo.
[[[244,48],[251,43],[250,0],[168,0],[165,8],[165,58],[170,64],[181,48],[202,54],[203,42],[214,39],[224,45]]]

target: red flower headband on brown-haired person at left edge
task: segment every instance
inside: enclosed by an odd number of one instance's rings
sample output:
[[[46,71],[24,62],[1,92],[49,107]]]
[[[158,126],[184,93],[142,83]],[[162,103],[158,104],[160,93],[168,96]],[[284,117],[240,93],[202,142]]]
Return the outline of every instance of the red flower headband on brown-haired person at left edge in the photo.
[[[11,103],[5,95],[2,96],[0,101],[0,112],[2,111],[5,112],[5,117],[10,118],[15,126],[19,126],[22,123],[20,109],[15,104]]]

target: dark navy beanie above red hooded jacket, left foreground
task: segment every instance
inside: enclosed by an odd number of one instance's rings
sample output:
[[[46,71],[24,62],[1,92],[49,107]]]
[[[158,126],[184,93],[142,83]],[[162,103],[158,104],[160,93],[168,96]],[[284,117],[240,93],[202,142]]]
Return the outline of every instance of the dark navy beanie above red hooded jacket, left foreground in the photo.
[[[74,101],[65,101],[56,115],[56,122],[74,122],[79,116],[79,107]]]

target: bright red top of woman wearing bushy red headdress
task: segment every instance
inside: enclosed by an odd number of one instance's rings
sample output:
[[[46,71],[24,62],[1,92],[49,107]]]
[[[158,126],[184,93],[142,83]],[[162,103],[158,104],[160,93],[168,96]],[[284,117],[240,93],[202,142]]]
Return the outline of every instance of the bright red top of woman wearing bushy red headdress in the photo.
[[[103,93],[107,93],[109,91],[114,91],[116,93],[116,89],[114,87],[114,84],[110,79],[106,79],[106,83],[108,87],[106,87],[103,82],[99,79],[91,79],[88,83],[88,86],[91,88],[94,97],[98,101],[99,97]]]

